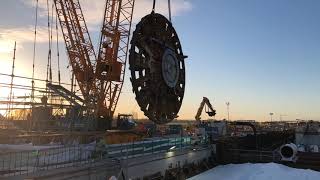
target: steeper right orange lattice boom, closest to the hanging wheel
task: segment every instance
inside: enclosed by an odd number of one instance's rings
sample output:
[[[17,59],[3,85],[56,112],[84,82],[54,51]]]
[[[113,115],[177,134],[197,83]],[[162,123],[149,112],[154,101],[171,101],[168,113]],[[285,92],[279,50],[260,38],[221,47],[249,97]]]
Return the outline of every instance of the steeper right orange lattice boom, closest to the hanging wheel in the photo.
[[[102,96],[100,99],[104,100],[104,102],[98,102],[98,104],[104,103],[104,107],[107,107],[105,113],[107,113],[109,117],[113,116],[124,82],[134,3],[135,0],[106,1],[96,72],[98,72],[99,63],[121,63],[119,81],[110,80],[107,77],[106,81],[98,81],[96,86],[104,87],[100,92]],[[110,44],[112,45],[112,52],[109,54],[103,50],[103,44],[108,41],[108,39],[111,40]],[[112,66],[109,66],[108,71],[110,71],[110,68],[112,68]]]

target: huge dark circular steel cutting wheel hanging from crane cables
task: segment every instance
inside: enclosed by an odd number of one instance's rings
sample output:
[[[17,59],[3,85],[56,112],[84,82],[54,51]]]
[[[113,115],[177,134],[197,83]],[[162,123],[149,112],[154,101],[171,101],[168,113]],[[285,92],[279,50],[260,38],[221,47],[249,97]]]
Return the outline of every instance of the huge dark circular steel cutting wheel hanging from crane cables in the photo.
[[[178,35],[164,16],[151,13],[137,24],[129,55],[131,83],[141,110],[156,124],[178,117],[184,58]]]

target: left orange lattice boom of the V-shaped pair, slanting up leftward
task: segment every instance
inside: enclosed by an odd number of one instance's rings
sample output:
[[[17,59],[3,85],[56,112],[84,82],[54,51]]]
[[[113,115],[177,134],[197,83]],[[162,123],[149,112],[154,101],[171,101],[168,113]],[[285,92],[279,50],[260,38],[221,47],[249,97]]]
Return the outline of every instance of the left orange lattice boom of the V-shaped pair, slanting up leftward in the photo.
[[[66,49],[80,90],[89,101],[96,59],[89,31],[78,0],[54,0]]]

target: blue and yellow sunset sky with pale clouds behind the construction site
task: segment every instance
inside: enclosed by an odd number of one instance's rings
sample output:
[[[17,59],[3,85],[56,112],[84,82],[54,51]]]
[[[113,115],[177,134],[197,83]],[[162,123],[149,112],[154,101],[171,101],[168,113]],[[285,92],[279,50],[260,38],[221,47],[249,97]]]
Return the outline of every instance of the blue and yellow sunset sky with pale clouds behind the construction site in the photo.
[[[320,119],[320,1],[171,0],[173,25],[186,59],[186,91],[179,119],[194,119],[202,97],[217,119]],[[35,0],[0,3],[0,72],[10,73],[17,41],[16,74],[31,76]],[[46,0],[39,0],[36,77],[45,77],[48,53]],[[104,0],[80,0],[92,39],[101,27]],[[151,12],[151,0],[136,0],[133,26]],[[156,12],[167,16],[167,1]],[[68,58],[60,34],[61,70],[69,81]],[[97,42],[94,42],[97,44]],[[53,54],[56,49],[53,49]],[[54,78],[57,79],[53,55]],[[143,113],[125,76],[117,112]],[[22,82],[18,79],[16,83]],[[1,97],[8,93],[0,87]],[[5,96],[5,95],[4,95]],[[205,113],[202,119],[207,119]]]

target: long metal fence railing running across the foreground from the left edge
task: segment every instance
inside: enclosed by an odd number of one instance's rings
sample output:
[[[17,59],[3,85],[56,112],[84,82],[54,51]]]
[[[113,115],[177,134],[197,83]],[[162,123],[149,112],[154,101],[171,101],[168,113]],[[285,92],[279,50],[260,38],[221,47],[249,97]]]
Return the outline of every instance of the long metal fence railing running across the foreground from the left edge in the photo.
[[[149,139],[125,144],[92,143],[68,147],[0,153],[0,177],[31,174],[66,167],[83,167],[100,161],[121,160],[207,145],[207,138]]]

